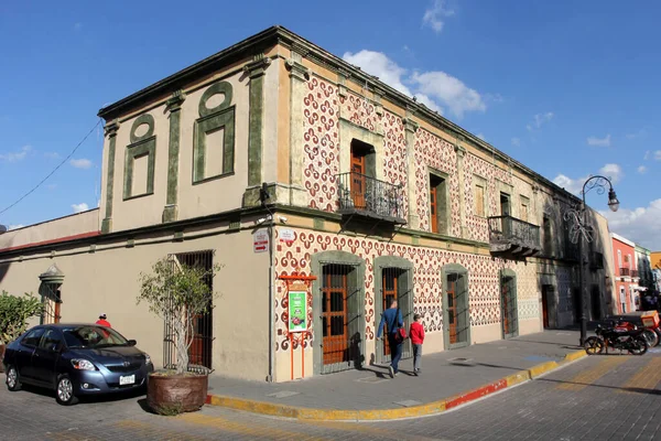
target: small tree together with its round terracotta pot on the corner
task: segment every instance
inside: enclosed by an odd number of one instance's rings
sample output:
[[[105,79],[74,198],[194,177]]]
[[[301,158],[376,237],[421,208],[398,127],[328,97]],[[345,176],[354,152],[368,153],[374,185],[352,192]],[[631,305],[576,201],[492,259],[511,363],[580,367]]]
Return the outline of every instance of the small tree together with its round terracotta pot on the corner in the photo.
[[[212,269],[178,265],[173,258],[155,262],[151,273],[140,273],[138,303],[149,309],[172,330],[176,348],[176,369],[150,374],[147,402],[160,415],[177,415],[202,408],[207,397],[206,374],[188,372],[188,348],[193,343],[195,318],[203,314],[216,294],[206,280],[216,276]]]

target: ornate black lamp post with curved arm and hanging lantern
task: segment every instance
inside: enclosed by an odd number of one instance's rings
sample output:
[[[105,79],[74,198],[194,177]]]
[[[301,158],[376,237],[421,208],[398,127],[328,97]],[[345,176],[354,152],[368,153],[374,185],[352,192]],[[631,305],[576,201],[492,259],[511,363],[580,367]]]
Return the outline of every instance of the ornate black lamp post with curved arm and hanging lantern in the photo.
[[[570,209],[565,213],[565,220],[573,220],[572,229],[570,232],[570,239],[573,244],[578,243],[578,287],[579,299],[581,299],[581,346],[585,342],[585,337],[587,334],[587,314],[586,306],[587,300],[585,299],[585,269],[583,261],[583,249],[585,248],[585,241],[590,243],[593,240],[592,233],[588,230],[588,226],[586,225],[585,218],[585,193],[589,192],[593,189],[597,189],[596,192],[598,194],[604,194],[606,192],[606,187],[608,187],[608,207],[611,212],[617,212],[619,208],[619,201],[617,200],[617,195],[615,194],[615,190],[613,190],[613,183],[606,176],[590,176],[583,184],[583,191],[581,194],[583,195],[583,202],[581,203],[581,207],[578,209]]]

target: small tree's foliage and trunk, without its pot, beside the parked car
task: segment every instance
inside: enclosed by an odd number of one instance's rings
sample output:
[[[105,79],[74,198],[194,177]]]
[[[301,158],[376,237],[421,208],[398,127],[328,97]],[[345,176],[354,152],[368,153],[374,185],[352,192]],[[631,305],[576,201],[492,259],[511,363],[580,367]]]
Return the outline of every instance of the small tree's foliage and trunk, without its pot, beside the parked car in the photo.
[[[188,368],[188,348],[193,343],[195,316],[207,311],[217,297],[207,284],[221,269],[214,265],[210,270],[180,265],[174,258],[156,261],[151,273],[140,273],[138,304],[149,304],[149,310],[163,319],[174,333],[176,347],[176,373]]]

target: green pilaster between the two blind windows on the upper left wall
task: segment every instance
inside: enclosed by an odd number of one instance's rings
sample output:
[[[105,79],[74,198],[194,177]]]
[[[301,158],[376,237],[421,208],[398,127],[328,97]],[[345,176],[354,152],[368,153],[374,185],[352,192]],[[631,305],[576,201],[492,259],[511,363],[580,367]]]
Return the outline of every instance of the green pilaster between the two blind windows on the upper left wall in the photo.
[[[170,141],[167,152],[167,197],[163,208],[163,223],[174,222],[178,218],[178,157],[181,138],[181,110],[186,99],[183,90],[172,94],[167,100],[170,111]]]

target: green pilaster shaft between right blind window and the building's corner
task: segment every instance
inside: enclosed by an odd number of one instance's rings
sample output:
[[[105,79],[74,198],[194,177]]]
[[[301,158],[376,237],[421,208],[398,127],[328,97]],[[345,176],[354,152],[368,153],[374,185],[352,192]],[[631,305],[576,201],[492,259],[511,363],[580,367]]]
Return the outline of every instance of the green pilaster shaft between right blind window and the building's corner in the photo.
[[[250,110],[248,116],[248,185],[261,184],[262,129],[264,114],[264,76],[250,78]]]

